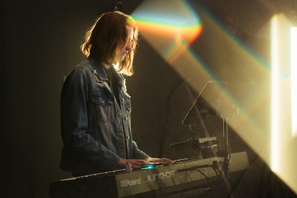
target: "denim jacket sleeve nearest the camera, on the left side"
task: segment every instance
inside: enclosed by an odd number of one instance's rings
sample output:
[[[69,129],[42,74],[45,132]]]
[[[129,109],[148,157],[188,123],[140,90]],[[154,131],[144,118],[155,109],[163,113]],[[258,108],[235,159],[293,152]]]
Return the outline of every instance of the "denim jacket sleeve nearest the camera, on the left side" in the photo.
[[[69,73],[62,88],[61,135],[64,143],[62,159],[63,155],[69,155],[65,158],[68,158],[69,166],[78,169],[75,171],[115,170],[120,157],[87,133],[88,79],[88,73],[76,67]]]

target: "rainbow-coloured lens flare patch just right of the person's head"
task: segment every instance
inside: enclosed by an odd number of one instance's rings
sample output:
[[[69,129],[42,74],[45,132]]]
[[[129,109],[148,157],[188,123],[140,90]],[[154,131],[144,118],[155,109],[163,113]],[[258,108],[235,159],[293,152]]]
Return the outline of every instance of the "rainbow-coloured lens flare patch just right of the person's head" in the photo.
[[[168,5],[171,10],[164,10]],[[149,36],[158,35],[158,39],[164,38],[168,41],[160,53],[169,64],[180,56],[202,31],[199,16],[187,1],[144,1],[132,17],[140,32]]]

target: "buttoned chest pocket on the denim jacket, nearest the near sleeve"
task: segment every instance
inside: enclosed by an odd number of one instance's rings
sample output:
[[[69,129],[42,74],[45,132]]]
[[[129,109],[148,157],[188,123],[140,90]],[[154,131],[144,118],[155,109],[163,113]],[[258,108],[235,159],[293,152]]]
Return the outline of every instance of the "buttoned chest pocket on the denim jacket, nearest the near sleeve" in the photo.
[[[111,120],[112,100],[100,94],[91,94],[96,121],[106,123]]]

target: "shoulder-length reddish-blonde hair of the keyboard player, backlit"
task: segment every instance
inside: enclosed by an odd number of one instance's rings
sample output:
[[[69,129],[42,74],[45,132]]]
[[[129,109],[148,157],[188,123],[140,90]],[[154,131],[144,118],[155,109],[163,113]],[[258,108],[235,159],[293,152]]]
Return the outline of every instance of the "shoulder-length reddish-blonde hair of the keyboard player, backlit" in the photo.
[[[129,25],[134,30],[131,41],[132,50],[119,61],[119,53],[129,41],[126,28]],[[135,20],[122,12],[107,12],[100,15],[94,25],[86,32],[85,42],[80,49],[86,56],[94,56],[106,64],[119,63],[118,72],[131,76],[133,74],[133,58],[138,43],[138,27]]]

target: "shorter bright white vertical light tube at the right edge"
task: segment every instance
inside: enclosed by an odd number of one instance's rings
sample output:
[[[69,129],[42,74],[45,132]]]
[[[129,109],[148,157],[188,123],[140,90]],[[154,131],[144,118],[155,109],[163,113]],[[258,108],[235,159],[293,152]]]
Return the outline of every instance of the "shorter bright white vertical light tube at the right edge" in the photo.
[[[292,136],[297,134],[297,27],[291,27]]]

